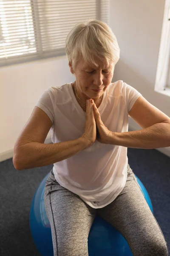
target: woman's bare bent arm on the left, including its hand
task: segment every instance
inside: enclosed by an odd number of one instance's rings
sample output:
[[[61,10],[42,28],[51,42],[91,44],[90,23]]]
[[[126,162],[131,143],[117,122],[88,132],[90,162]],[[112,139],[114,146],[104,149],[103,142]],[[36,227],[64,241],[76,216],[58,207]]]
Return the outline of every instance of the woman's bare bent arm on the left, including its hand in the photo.
[[[72,157],[96,141],[96,122],[93,105],[87,103],[85,132],[76,140],[44,144],[52,122],[37,106],[14,145],[15,169],[24,170],[47,166]]]

